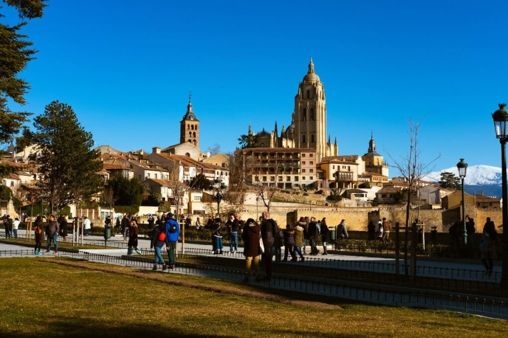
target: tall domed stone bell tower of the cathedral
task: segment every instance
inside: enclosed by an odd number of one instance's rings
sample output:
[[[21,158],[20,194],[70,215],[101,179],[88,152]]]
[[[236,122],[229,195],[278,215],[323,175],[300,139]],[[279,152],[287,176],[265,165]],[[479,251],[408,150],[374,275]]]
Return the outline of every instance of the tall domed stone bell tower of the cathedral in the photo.
[[[316,162],[327,156],[325,87],[314,72],[312,58],[295,96],[295,146],[316,150]],[[330,152],[330,150],[329,150]],[[333,152],[336,153],[336,152]],[[336,155],[336,154],[331,154]]]

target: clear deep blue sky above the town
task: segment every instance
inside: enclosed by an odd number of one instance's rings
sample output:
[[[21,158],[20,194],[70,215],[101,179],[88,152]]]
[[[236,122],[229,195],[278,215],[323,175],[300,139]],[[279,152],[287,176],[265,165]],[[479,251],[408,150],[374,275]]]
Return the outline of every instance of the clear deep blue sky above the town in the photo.
[[[51,0],[24,32],[39,50],[24,109],[70,104],[97,145],[179,141],[189,89],[202,150],[291,122],[312,57],[339,154],[406,153],[422,122],[434,169],[500,166],[491,113],[508,101],[506,2]],[[392,162],[389,160],[389,162]],[[391,176],[396,175],[391,170]]]

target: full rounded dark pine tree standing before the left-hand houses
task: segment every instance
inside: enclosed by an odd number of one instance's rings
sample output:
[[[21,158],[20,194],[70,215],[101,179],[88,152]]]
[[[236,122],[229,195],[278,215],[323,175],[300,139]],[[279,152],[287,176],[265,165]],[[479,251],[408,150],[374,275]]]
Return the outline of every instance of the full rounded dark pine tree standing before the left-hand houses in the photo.
[[[99,152],[92,150],[92,135],[80,125],[71,106],[53,101],[34,121],[34,141],[41,148],[40,187],[51,212],[99,193],[103,183],[96,174],[102,169]]]

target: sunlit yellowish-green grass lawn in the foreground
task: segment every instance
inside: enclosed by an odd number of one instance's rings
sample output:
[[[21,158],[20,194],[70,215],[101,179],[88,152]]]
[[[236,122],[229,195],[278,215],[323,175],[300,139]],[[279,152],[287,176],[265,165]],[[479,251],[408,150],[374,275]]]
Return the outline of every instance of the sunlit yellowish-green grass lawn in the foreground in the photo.
[[[137,271],[65,258],[0,259],[2,337],[505,336],[506,321]],[[276,291],[274,291],[276,292]]]

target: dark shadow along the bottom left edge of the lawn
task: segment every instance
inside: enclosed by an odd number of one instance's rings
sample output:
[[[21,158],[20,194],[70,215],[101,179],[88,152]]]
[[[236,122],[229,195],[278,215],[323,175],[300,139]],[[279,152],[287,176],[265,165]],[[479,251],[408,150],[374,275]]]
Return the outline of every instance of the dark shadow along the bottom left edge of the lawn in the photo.
[[[176,309],[175,309],[176,310]],[[133,314],[133,316],[135,313]],[[114,315],[107,322],[98,321],[89,318],[68,316],[66,318],[55,318],[47,316],[46,325],[37,324],[33,328],[33,333],[20,332],[15,328],[11,331],[0,330],[0,337],[23,337],[23,338],[41,338],[41,337],[219,337],[230,334],[203,334],[193,332],[192,328],[172,327],[171,314],[168,313],[168,319],[164,322],[138,322],[122,325],[121,318],[115,318]],[[241,335],[241,334],[239,334]]]

